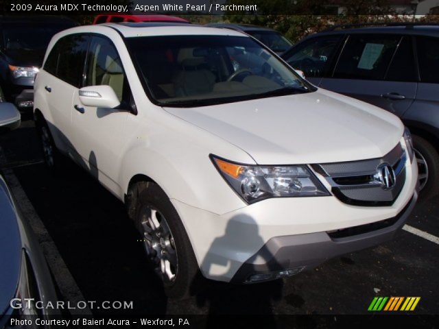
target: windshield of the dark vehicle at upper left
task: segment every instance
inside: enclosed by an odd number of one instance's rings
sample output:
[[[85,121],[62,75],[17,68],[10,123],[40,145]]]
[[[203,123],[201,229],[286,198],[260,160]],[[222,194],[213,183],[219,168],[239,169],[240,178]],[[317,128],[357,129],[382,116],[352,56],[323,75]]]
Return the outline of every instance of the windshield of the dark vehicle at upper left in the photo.
[[[5,50],[45,50],[54,34],[67,29],[64,25],[3,25]]]

